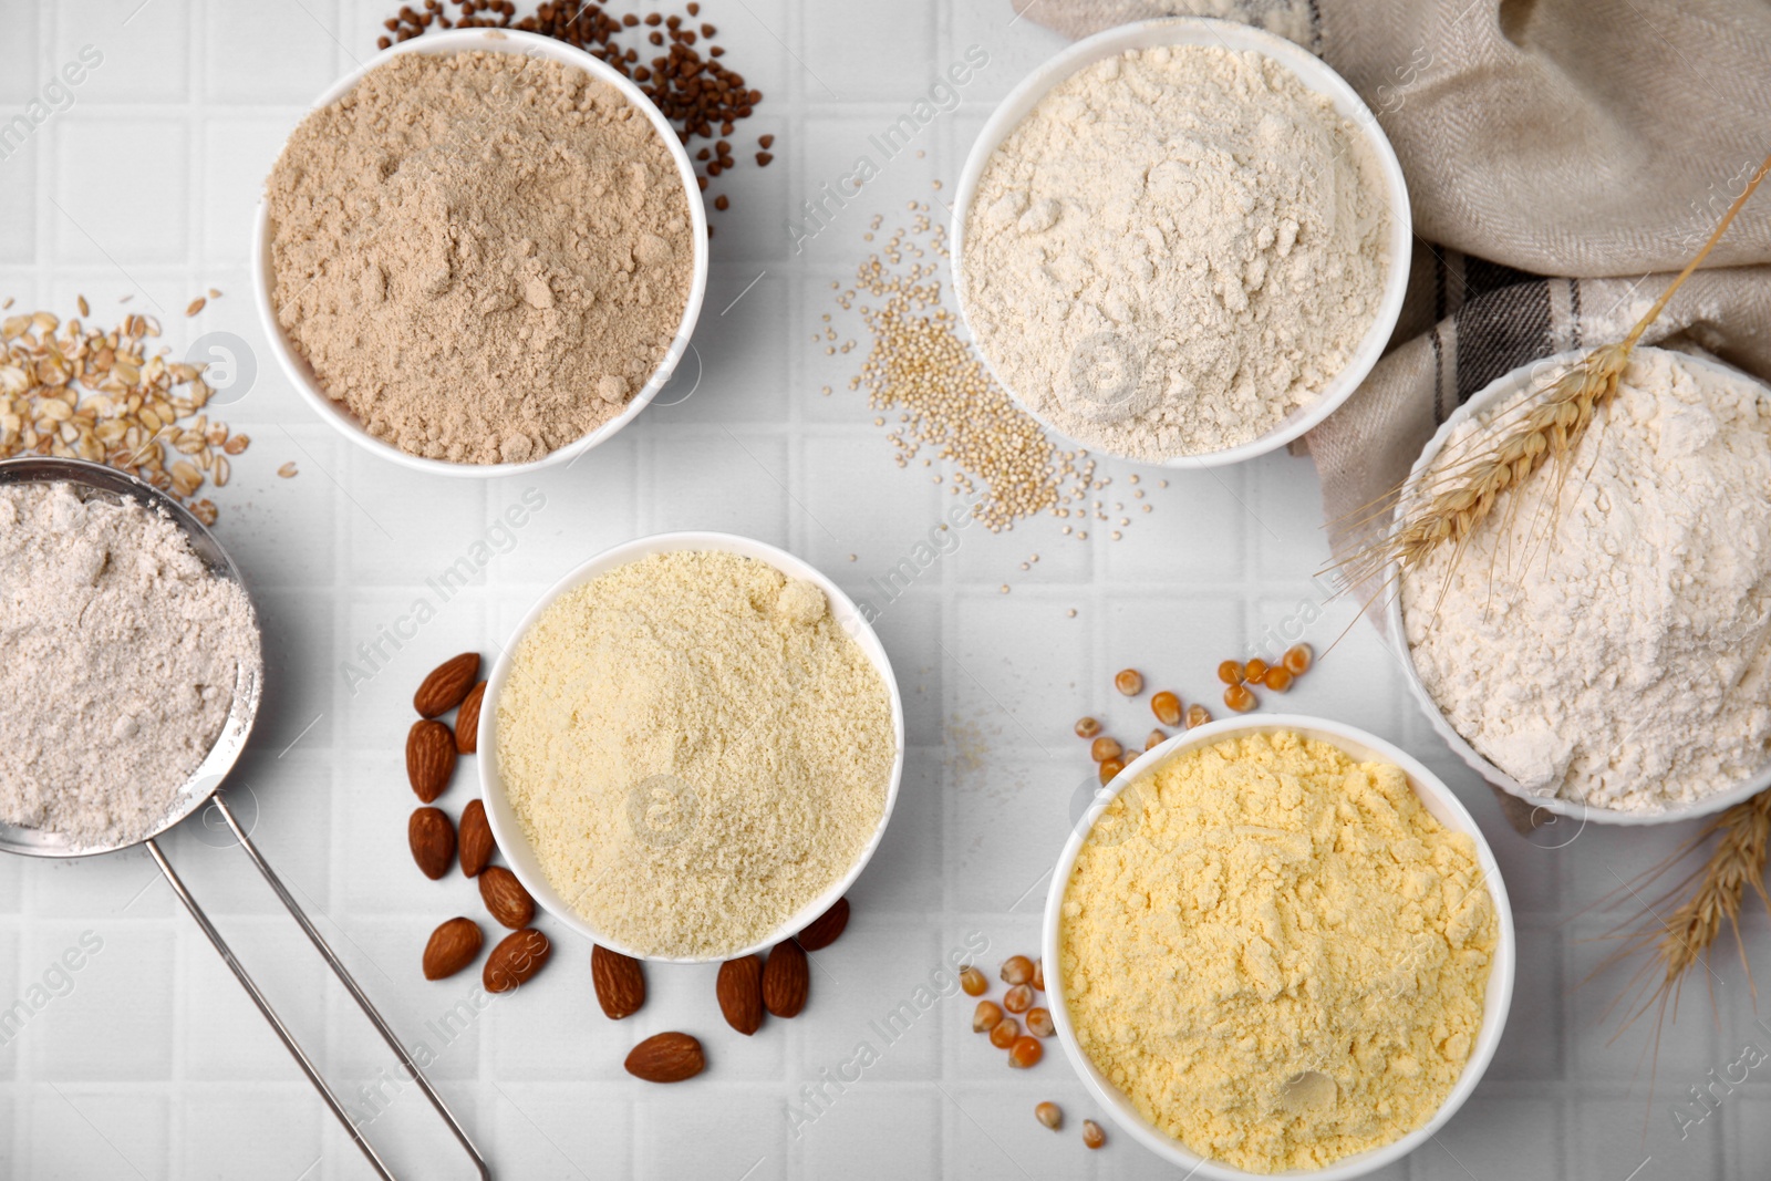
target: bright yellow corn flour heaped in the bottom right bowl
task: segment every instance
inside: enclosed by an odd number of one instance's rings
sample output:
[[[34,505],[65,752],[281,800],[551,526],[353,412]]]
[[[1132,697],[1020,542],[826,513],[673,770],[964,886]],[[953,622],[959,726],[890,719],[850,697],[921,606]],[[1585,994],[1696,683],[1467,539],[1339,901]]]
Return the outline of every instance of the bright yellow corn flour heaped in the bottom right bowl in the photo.
[[[1475,1045],[1496,930],[1475,843],[1399,768],[1275,733],[1112,802],[1059,958],[1077,1041],[1151,1123],[1277,1172],[1433,1117]]]

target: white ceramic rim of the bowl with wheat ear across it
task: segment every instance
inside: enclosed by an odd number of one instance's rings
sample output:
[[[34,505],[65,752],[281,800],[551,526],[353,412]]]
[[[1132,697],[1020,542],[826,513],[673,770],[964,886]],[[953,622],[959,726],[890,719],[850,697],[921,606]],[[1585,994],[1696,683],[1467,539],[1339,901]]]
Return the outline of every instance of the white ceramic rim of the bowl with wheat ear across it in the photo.
[[[1440,428],[1433,434],[1427,444],[1420,450],[1420,459],[1415,460],[1413,469],[1408,473],[1410,480],[1419,476],[1435,459],[1438,459],[1438,453],[1440,450],[1443,450],[1445,441],[1450,437],[1450,432],[1456,430],[1461,423],[1465,423],[1473,416],[1486,414],[1489,407],[1505,402],[1512,395],[1530,386],[1534,381],[1535,382],[1548,381],[1548,375],[1564,372],[1566,368],[1580,361],[1582,356],[1585,356],[1585,351],[1574,349],[1569,352],[1558,352],[1541,361],[1532,361],[1530,365],[1523,365],[1512,370],[1511,374],[1496,377],[1479,393],[1470,395],[1470,400],[1459,405],[1456,411],[1452,411],[1450,416],[1443,423],[1440,423]],[[1741,379],[1757,381],[1752,374],[1743,374],[1741,370],[1730,365],[1721,365],[1720,361],[1709,361],[1691,354],[1681,354],[1681,365],[1690,365],[1693,368],[1707,368],[1718,374],[1725,374],[1734,381]],[[1388,577],[1394,579],[1397,575],[1399,570],[1392,563]],[[1674,823],[1679,820],[1693,820],[1697,816],[1709,816],[1713,813],[1734,807],[1741,800],[1748,800],[1764,791],[1766,788],[1771,788],[1771,763],[1766,763],[1766,767],[1757,776],[1743,781],[1734,788],[1728,788],[1727,791],[1720,791],[1707,799],[1697,800],[1695,804],[1690,804],[1686,807],[1670,807],[1659,813],[1620,813],[1608,807],[1594,807],[1585,800],[1567,800],[1558,795],[1537,795],[1535,791],[1527,790],[1518,779],[1514,779],[1507,772],[1489,763],[1482,754],[1479,754],[1477,749],[1470,745],[1470,742],[1463,735],[1459,735],[1458,729],[1450,724],[1450,719],[1445,717],[1445,712],[1438,706],[1438,701],[1433,699],[1433,694],[1427,692],[1426,683],[1420,680],[1420,669],[1415,668],[1413,652],[1408,648],[1408,629],[1403,623],[1401,595],[1390,595],[1390,604],[1388,607],[1385,607],[1385,621],[1387,621],[1385,630],[1388,632],[1390,646],[1396,650],[1397,662],[1403,666],[1403,678],[1408,682],[1408,692],[1413,694],[1415,705],[1419,705],[1420,712],[1426,714],[1427,722],[1433,726],[1433,729],[1438,731],[1438,735],[1450,745],[1450,749],[1458,753],[1458,758],[1468,763],[1475,774],[1482,776],[1482,779],[1498,786],[1507,795],[1516,795],[1518,799],[1525,800],[1534,807],[1534,811],[1551,813],[1555,816],[1569,816],[1573,820],[1582,822],[1583,827],[1589,820],[1592,823],[1606,823],[1606,825],[1656,825],[1656,823]]]

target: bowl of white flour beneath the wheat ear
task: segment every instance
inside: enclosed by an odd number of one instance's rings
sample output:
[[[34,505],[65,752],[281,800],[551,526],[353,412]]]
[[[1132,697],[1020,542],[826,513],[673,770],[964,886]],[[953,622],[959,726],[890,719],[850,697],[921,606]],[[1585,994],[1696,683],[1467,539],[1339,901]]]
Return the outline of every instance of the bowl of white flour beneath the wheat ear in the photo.
[[[1415,476],[1479,455],[1580,359],[1473,395]],[[1427,721],[1553,816],[1688,820],[1771,786],[1767,487],[1771,388],[1638,347],[1562,471],[1546,462],[1461,547],[1399,574],[1388,632]]]

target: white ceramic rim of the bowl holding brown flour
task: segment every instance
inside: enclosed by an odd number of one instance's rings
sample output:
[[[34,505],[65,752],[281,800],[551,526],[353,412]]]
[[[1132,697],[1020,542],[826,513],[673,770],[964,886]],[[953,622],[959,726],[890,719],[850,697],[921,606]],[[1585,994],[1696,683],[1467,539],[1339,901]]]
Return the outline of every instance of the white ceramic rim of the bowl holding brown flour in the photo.
[[[675,127],[669,126],[669,120],[664,119],[662,112],[659,112],[652,99],[648,99],[632,81],[622,78],[590,53],[572,48],[563,41],[554,41],[553,37],[542,37],[538,34],[501,28],[455,28],[450,32],[414,37],[413,41],[402,41],[390,50],[383,50],[375,57],[368,58],[368,62],[333,83],[324,94],[321,94],[319,99],[313,101],[313,110],[331,106],[349,94],[363,74],[398,57],[400,53],[434,53],[446,57],[452,53],[473,53],[476,50],[483,50],[487,53],[519,53],[524,57],[563,62],[584,71],[599,81],[609,83],[620,90],[629,103],[639,108],[648,120],[652,120],[652,126],[657,127],[659,136],[664,140],[664,147],[669,149],[671,159],[677,163],[677,175],[682,181],[684,197],[689,200],[689,235],[694,244],[694,273],[689,282],[689,303],[682,310],[682,322],[677,326],[677,336],[664,352],[664,359],[659,363],[657,370],[639,393],[629,400],[627,407],[590,434],[526,464],[455,464],[443,459],[409,455],[391,443],[384,443],[368,434],[356,414],[352,414],[342,402],[333,402],[326,397],[326,391],[321,390],[315,381],[313,370],[301,359],[301,356],[296,354],[294,347],[289,343],[289,336],[283,333],[282,324],[276,322],[276,308],[271,303],[271,287],[275,282],[275,273],[271,269],[271,207],[262,195],[259,197],[257,218],[253,218],[251,292],[253,301],[259,306],[259,320],[264,324],[264,335],[271,342],[271,352],[276,354],[276,361],[283,367],[283,374],[289,375],[289,381],[296,386],[296,391],[306,400],[306,404],[313,407],[313,413],[336,428],[338,434],[351,439],[351,443],[414,471],[429,471],[445,476],[514,476],[551,467],[554,464],[570,464],[590,448],[607,441],[622,427],[634,421],[639,411],[643,411],[652,398],[657,397],[659,390],[664,388],[671,374],[677,372],[677,363],[682,359],[684,352],[689,351],[689,335],[694,331],[694,322],[701,315],[701,299],[707,294],[707,207],[701,202],[701,186],[694,179],[694,165],[689,163],[689,152],[684,151]]]

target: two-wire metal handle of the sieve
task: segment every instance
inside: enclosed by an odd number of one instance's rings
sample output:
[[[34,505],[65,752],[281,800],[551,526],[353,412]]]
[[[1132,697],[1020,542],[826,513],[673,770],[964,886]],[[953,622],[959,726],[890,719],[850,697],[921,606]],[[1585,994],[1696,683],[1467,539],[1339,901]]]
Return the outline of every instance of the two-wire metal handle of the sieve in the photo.
[[[480,1151],[473,1146],[473,1140],[468,1139],[468,1133],[466,1130],[462,1130],[460,1121],[455,1119],[455,1114],[450,1112],[448,1105],[443,1101],[443,1096],[437,1094],[436,1087],[430,1085],[430,1080],[425,1078],[423,1071],[406,1052],[406,1046],[400,1045],[400,1039],[393,1034],[393,1029],[388,1027],[388,1022],[383,1020],[375,1006],[370,1004],[361,986],[358,986],[351,972],[345,970],[344,963],[338,960],[336,953],[333,953],[331,946],[308,919],[306,912],[303,912],[301,907],[296,905],[296,899],[289,894],[289,889],[283,885],[282,878],[276,876],[269,862],[264,861],[264,855],[259,853],[259,846],[255,846],[251,839],[246,836],[244,829],[239,827],[239,822],[234,818],[234,811],[227,806],[227,802],[220,795],[216,795],[211,802],[221,813],[221,818],[227,820],[228,829],[234,830],[234,836],[239,839],[241,848],[244,848],[246,855],[251,857],[251,862],[259,868],[259,873],[262,873],[264,880],[271,884],[273,891],[276,891],[276,896],[283,901],[283,907],[289,908],[289,914],[294,915],[296,922],[301,924],[301,930],[306,931],[308,938],[326,958],[326,963],[328,967],[331,967],[333,976],[338,977],[338,981],[356,1000],[358,1007],[363,1009],[363,1015],[370,1020],[370,1023],[374,1023],[375,1030],[381,1032],[383,1039],[404,1064],[411,1080],[416,1082],[418,1087],[425,1092],[425,1098],[430,1100],[430,1107],[437,1110],[443,1121],[450,1126],[450,1131],[455,1133],[455,1140],[473,1160],[473,1167],[478,1170],[480,1179],[491,1181],[492,1174],[485,1165],[485,1158],[480,1156]],[[214,922],[209,921],[209,915],[204,914],[204,908],[197,905],[197,898],[191,896],[189,889],[186,889],[184,885],[184,880],[179,878],[177,871],[172,868],[172,862],[166,861],[165,852],[161,852],[159,841],[149,839],[145,845],[147,852],[154,859],[154,864],[158,864],[159,871],[165,875],[166,884],[172,885],[172,892],[177,894],[179,901],[184,903],[184,908],[191,912],[191,919],[195,919],[202,933],[209,937],[209,942],[214,946],[216,954],[220,954],[221,961],[227,963],[230,972],[234,972],[234,979],[237,979],[241,988],[246,990],[246,995],[251,997],[251,1002],[259,1006],[259,1013],[264,1015],[264,1020],[271,1025],[273,1030],[276,1030],[276,1036],[282,1039],[283,1048],[289,1050],[290,1057],[296,1059],[296,1064],[301,1068],[301,1073],[308,1077],[308,1082],[313,1084],[313,1089],[321,1094],[322,1100],[326,1100],[326,1107],[331,1108],[331,1114],[344,1126],[345,1133],[349,1133],[351,1140],[363,1151],[363,1156],[368,1158],[368,1163],[375,1169],[375,1176],[379,1176],[383,1181],[397,1181],[395,1176],[388,1170],[386,1162],[383,1162],[381,1154],[375,1153],[375,1147],[368,1142],[367,1137],[363,1137],[358,1126],[351,1121],[351,1114],[345,1110],[344,1103],[338,1101],[338,1096],[333,1092],[331,1085],[328,1085],[326,1078],[321,1077],[319,1068],[313,1066],[313,1061],[296,1041],[296,1036],[289,1032],[287,1025],[283,1025],[283,1018],[280,1018],[276,1015],[276,1009],[271,1007],[271,1002],[266,1000],[264,993],[259,990],[259,984],[251,979],[251,974],[246,972],[246,967],[234,956],[234,951],[227,946],[227,940],[221,938],[221,931],[218,931]]]

